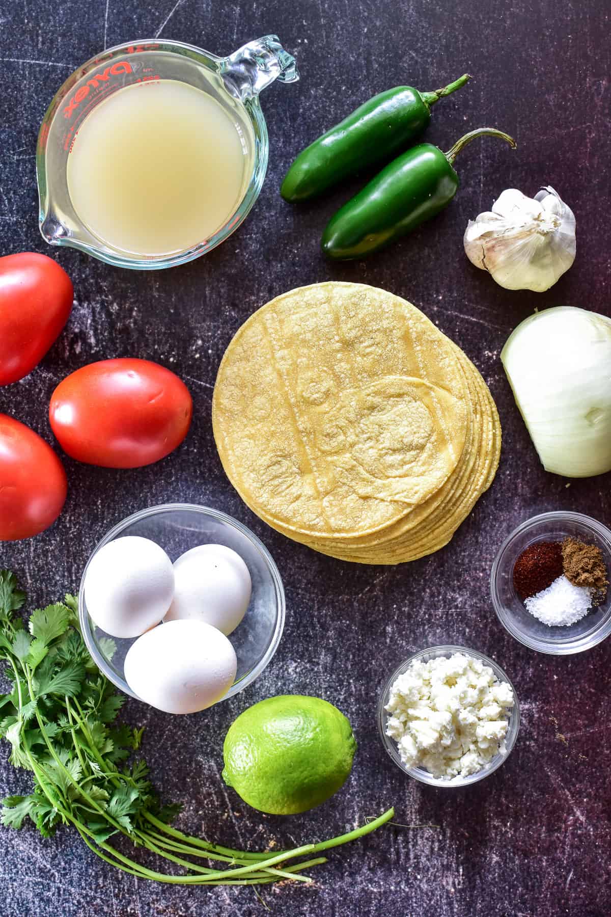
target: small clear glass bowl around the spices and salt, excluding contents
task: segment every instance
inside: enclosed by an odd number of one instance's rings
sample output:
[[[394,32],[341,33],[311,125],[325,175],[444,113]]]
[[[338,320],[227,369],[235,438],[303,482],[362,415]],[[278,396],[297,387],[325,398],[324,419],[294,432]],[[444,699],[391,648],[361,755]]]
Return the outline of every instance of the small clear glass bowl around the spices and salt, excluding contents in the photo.
[[[611,590],[606,600],[581,621],[550,627],[530,614],[513,584],[513,568],[522,551],[537,541],[562,541],[568,536],[600,547],[611,572],[611,531],[581,513],[542,513],[533,516],[501,545],[490,573],[490,594],[496,615],[505,629],[524,646],[540,653],[568,656],[600,643],[611,634]]]

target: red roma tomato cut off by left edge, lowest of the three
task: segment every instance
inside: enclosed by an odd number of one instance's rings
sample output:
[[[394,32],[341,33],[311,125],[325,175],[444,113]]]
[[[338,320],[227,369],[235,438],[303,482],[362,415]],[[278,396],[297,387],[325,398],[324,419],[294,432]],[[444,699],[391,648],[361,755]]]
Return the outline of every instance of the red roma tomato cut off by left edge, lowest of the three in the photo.
[[[67,492],[53,449],[29,426],[0,414],[0,541],[44,532],[60,515]]]

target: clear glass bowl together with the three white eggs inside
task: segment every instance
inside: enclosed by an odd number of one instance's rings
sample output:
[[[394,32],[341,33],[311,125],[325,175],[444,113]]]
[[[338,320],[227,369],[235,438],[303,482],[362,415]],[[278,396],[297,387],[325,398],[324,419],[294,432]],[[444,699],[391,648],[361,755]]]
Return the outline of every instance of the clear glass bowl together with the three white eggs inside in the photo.
[[[141,510],[93,550],[79,590],[82,635],[117,688],[166,713],[243,691],[282,635],[278,568],[231,516],[190,503]]]

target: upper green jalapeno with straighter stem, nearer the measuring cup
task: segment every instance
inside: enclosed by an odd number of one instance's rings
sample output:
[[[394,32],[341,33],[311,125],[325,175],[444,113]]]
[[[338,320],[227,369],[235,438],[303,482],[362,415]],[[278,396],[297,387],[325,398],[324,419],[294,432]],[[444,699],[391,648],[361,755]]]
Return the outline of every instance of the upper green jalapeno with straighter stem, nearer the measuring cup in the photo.
[[[433,93],[396,86],[374,95],[300,152],[282,182],[282,197],[305,201],[358,171],[393,159],[427,127],[431,105],[470,79],[464,73]]]

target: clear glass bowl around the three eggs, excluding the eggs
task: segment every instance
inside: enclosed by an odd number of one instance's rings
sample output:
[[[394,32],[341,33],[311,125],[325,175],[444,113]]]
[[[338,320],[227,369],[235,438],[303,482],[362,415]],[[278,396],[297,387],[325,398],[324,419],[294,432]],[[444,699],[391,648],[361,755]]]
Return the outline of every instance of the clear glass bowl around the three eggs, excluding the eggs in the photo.
[[[211,543],[231,547],[243,558],[252,580],[252,595],[243,621],[229,636],[237,657],[237,672],[234,684],[221,700],[244,691],[271,661],[284,628],[284,589],[278,568],[267,548],[245,525],[231,516],[190,503],[165,503],[141,510],[115,525],[96,545],[83,570],[79,590],[82,635],[100,671],[120,691],[138,701],[140,698],[131,690],[124,675],[125,654],[137,638],[109,637],[93,624],[83,591],[87,567],[95,554],[109,541],[127,535],[157,542],[172,562],[191,547]],[[109,644],[109,640],[113,643]],[[108,647],[112,645],[115,645],[115,652],[111,658]]]

